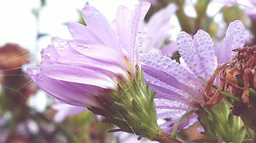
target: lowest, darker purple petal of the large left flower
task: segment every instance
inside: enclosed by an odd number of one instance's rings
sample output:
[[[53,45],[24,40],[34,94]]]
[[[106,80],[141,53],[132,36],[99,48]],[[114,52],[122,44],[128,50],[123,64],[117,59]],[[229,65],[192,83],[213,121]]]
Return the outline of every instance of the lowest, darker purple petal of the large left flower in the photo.
[[[50,78],[42,74],[38,67],[29,67],[27,73],[40,89],[44,90],[53,98],[71,105],[84,107],[97,105],[95,100],[93,100],[93,96],[97,96],[102,91],[101,88],[96,86]]]

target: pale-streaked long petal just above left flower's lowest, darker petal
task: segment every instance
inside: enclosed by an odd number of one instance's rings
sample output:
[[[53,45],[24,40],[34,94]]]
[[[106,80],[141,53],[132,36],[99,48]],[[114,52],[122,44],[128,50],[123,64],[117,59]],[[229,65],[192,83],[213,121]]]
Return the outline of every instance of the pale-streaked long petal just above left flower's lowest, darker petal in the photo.
[[[116,88],[116,83],[109,76],[91,69],[44,61],[41,63],[41,73],[56,80],[95,85],[104,89]]]

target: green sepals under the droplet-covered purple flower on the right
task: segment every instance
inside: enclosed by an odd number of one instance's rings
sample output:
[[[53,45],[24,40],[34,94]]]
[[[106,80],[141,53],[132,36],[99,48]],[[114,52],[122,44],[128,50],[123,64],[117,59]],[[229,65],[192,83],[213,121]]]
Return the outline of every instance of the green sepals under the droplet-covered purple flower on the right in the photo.
[[[219,104],[198,110],[198,121],[202,124],[206,139],[210,142],[240,143],[245,138],[242,120],[232,115],[231,104],[222,100]]]

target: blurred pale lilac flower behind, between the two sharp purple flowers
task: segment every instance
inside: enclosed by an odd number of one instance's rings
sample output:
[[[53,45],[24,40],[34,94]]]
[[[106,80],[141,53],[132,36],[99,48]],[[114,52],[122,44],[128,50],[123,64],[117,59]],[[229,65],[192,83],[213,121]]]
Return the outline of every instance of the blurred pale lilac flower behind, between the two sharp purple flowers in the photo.
[[[171,37],[170,30],[175,27],[170,22],[170,18],[172,18],[176,10],[177,6],[175,4],[168,4],[165,8],[152,15],[150,20],[144,24],[141,41],[143,52],[167,55],[177,50],[175,42],[169,43],[162,48],[164,41]]]

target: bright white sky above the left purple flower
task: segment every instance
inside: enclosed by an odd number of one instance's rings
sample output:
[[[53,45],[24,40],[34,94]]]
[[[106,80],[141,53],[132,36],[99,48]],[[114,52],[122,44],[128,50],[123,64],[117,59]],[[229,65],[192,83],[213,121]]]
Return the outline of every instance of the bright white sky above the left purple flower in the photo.
[[[120,5],[133,9],[138,3],[137,0],[48,0],[40,13],[39,29],[49,36],[40,39],[39,49],[46,48],[51,42],[51,37],[71,39],[68,28],[63,23],[77,21],[76,10],[81,10],[87,2],[103,13],[110,22],[115,19],[116,10]],[[0,1],[0,46],[11,42],[34,51],[36,20],[32,9],[38,8],[39,5],[40,0]]]

